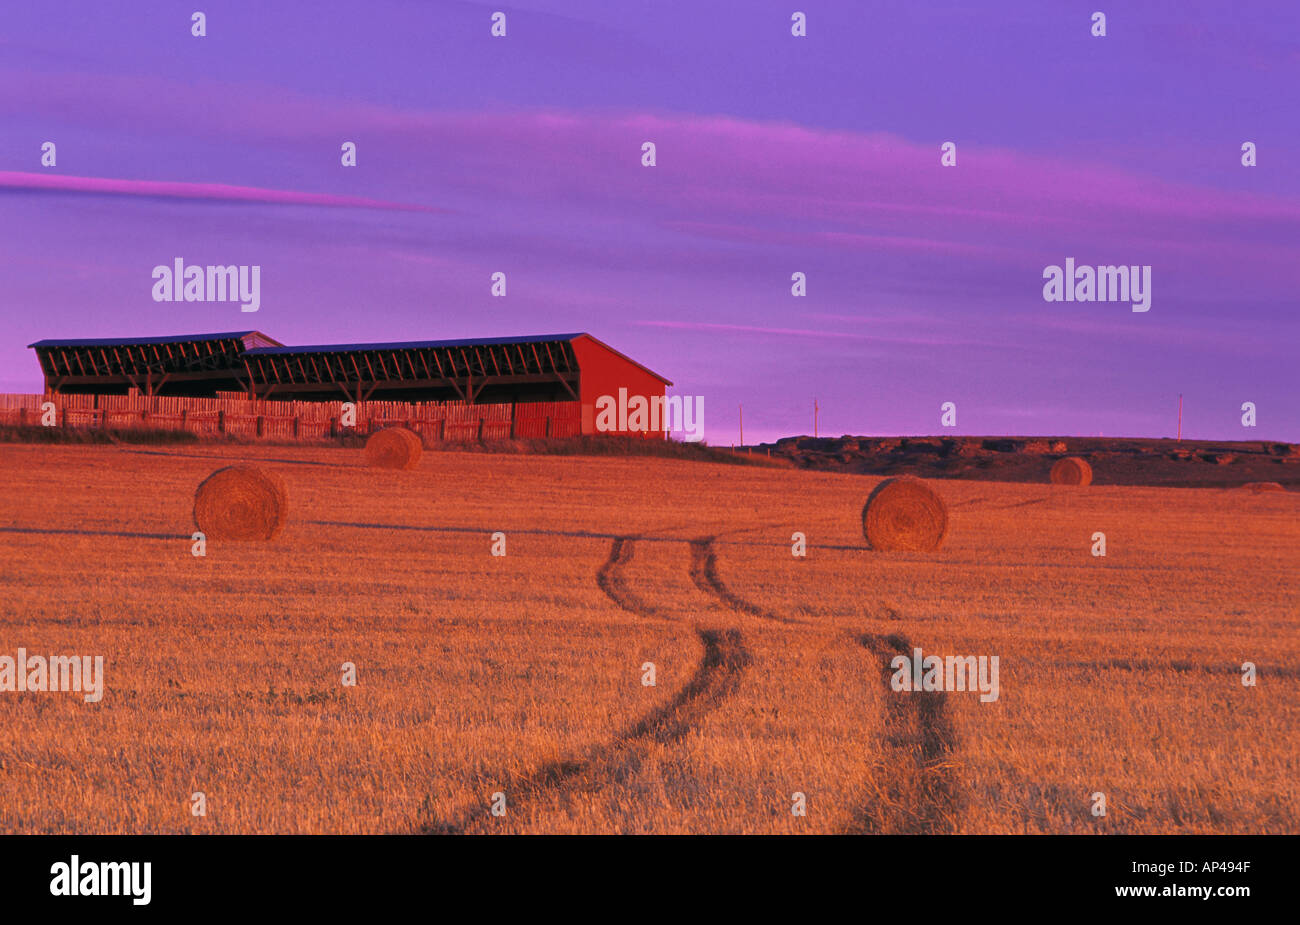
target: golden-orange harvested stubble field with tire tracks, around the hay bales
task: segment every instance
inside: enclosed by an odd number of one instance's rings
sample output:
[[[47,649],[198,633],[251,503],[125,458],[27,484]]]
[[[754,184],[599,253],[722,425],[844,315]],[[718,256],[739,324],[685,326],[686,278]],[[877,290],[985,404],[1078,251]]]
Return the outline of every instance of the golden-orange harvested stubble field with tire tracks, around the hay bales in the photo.
[[[945,546],[881,553],[870,477],[361,459],[0,444],[0,655],[107,674],[0,694],[0,831],[1300,831],[1296,494],[932,482]],[[289,524],[195,557],[235,460]],[[892,691],[911,646],[1000,699]]]

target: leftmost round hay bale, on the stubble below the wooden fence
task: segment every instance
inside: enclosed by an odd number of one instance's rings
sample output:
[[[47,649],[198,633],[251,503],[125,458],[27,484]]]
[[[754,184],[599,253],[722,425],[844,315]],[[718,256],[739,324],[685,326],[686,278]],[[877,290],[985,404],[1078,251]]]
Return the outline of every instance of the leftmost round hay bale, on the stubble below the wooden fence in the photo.
[[[194,524],[208,539],[274,539],[287,517],[285,479],[255,465],[217,469],[194,492]]]

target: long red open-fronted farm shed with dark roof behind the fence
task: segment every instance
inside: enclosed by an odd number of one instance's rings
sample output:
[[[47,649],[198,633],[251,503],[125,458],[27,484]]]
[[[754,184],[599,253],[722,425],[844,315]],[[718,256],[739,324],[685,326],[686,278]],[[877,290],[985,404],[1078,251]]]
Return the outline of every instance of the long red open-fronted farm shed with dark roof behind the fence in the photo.
[[[581,409],[584,434],[597,430],[602,396],[618,400],[627,390],[625,396],[649,401],[672,385],[590,334],[286,347],[260,331],[233,331],[29,347],[51,395],[571,403]],[[649,433],[662,437],[662,424]]]

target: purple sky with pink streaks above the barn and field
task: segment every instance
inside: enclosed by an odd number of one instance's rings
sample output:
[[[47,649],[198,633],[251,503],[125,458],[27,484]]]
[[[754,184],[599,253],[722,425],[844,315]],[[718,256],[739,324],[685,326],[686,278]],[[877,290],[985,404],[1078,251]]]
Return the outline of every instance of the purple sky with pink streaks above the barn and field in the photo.
[[[1184,437],[1300,440],[1295,0],[285,6],[6,8],[0,391],[47,336],[586,330],[715,444],[814,398],[823,434],[1171,437],[1179,392]],[[174,257],[260,265],[261,310],[155,303]],[[1150,310],[1045,303],[1066,257],[1149,264]]]

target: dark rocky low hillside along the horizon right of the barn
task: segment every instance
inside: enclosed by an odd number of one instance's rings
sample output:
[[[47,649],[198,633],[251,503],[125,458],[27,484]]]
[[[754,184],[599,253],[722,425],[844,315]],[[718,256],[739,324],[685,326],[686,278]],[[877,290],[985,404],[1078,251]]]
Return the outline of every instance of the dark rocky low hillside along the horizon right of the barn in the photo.
[[[786,437],[753,448],[801,469],[871,475],[1046,482],[1062,456],[1082,456],[1096,485],[1300,488],[1300,444],[1104,437]]]

